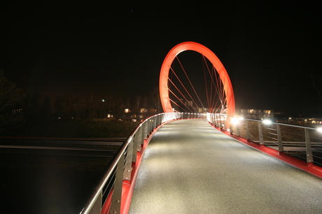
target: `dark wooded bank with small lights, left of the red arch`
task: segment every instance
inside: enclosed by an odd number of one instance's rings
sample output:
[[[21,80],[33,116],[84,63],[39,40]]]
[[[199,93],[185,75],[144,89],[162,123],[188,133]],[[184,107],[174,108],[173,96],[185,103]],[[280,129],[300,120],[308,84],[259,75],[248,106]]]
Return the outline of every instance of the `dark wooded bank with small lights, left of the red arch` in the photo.
[[[94,93],[27,94],[0,70],[0,136],[127,137],[139,121],[160,111],[158,88],[125,98]]]

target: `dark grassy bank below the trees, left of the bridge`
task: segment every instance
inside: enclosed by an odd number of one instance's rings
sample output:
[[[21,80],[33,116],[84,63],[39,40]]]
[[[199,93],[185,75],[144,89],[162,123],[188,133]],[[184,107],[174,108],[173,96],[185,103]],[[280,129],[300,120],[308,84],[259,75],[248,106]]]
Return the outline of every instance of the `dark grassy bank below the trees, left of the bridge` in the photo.
[[[138,123],[118,120],[64,120],[27,121],[6,137],[53,137],[53,138],[109,138],[128,137]]]

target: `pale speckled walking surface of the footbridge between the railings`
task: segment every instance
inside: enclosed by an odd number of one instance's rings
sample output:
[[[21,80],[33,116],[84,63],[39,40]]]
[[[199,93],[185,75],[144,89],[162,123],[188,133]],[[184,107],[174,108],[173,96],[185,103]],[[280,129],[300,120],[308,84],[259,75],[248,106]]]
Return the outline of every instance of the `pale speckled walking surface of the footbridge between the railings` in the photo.
[[[155,133],[130,213],[322,213],[321,201],[321,178],[197,119]]]

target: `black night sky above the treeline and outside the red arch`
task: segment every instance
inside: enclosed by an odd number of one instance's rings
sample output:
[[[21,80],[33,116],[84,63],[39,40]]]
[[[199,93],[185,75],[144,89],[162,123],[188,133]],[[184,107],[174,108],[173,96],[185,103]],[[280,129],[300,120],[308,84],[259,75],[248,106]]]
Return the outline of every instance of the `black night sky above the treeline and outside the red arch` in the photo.
[[[118,2],[1,1],[0,68],[28,93],[145,95],[194,41],[221,59],[237,107],[321,106],[321,1]]]

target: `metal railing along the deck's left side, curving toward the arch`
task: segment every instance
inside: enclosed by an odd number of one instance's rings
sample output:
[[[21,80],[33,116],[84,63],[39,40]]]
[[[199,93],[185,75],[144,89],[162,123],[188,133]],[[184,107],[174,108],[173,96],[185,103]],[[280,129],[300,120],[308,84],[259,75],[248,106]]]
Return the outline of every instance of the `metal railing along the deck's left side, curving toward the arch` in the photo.
[[[156,114],[140,123],[120,147],[80,213],[100,214],[102,208],[106,206],[109,206],[109,213],[120,213],[123,181],[131,181],[132,162],[137,162],[137,153],[141,152],[144,140],[148,139],[153,130],[162,123],[176,119],[205,119],[206,117],[207,114],[172,112]]]

